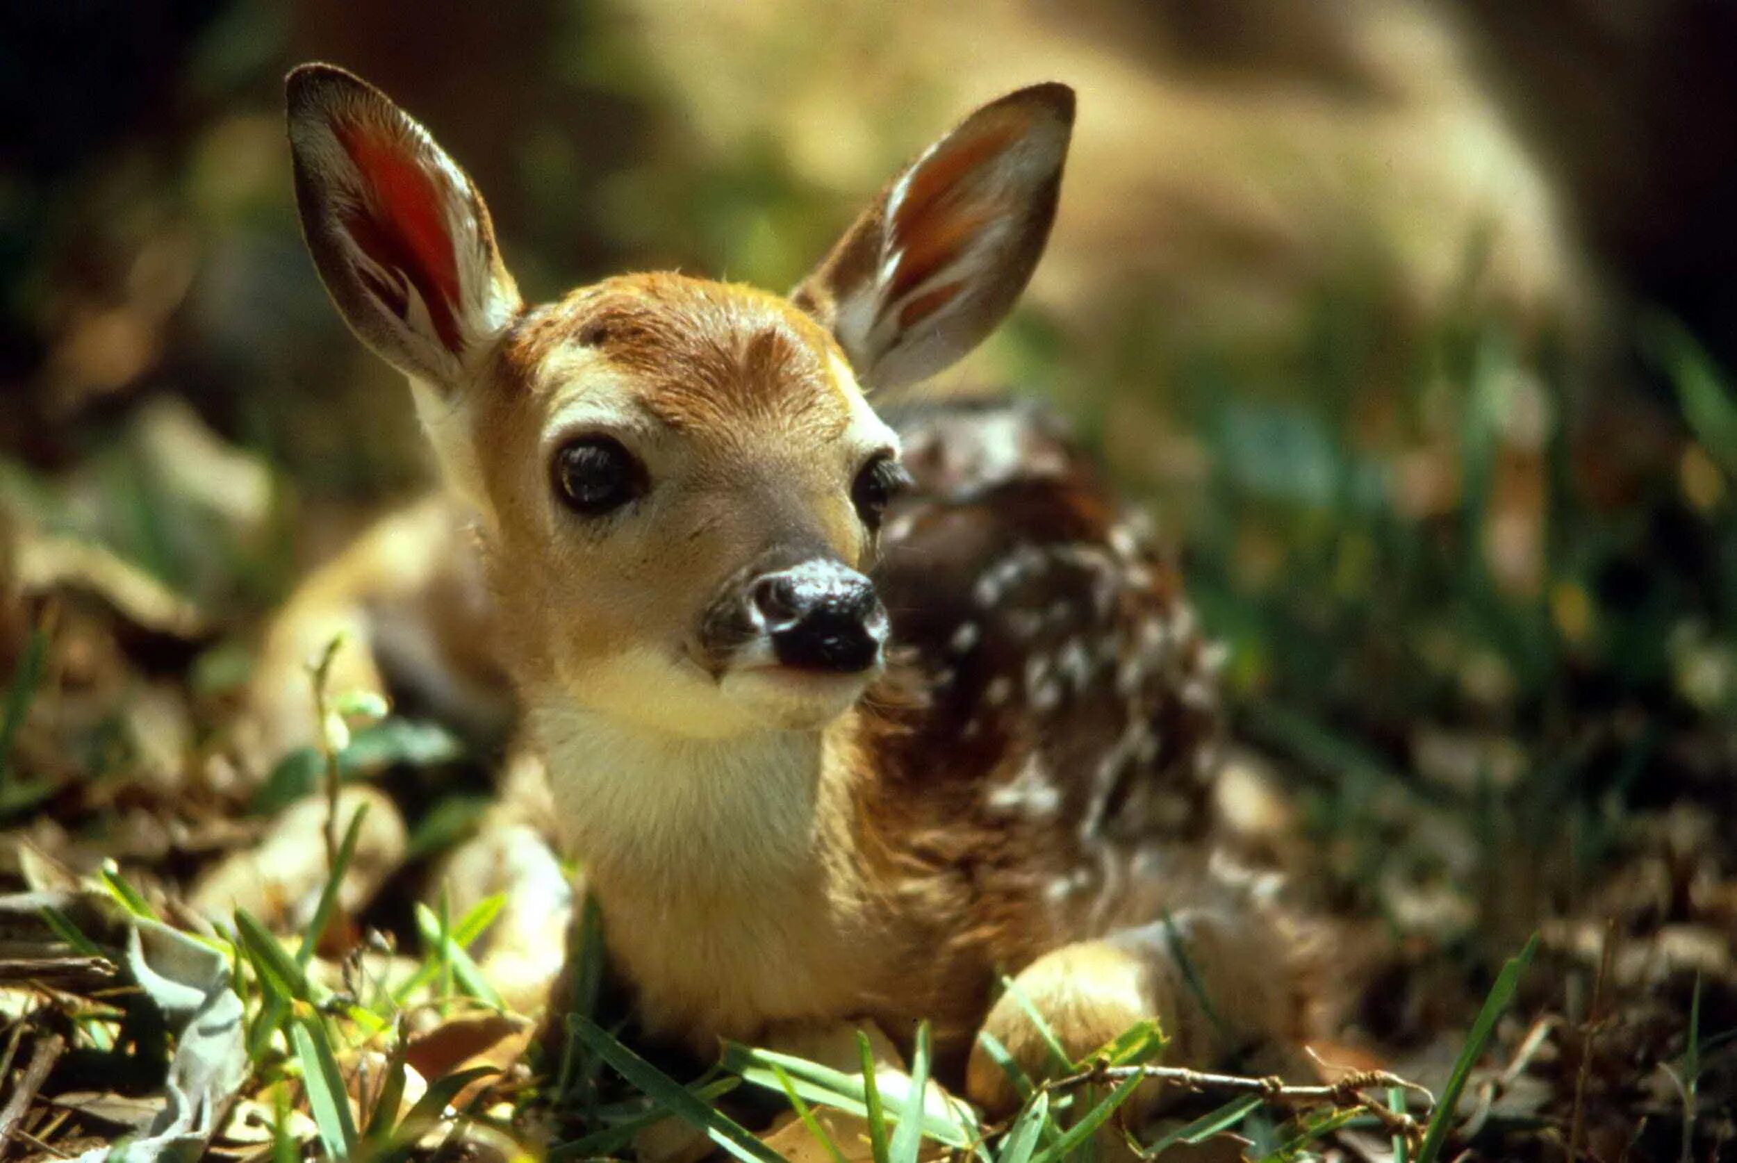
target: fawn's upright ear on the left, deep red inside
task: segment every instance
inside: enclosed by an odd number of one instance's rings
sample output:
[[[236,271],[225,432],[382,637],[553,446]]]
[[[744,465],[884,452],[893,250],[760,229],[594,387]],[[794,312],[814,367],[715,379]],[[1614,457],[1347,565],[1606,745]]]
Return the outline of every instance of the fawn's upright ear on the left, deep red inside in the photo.
[[[375,354],[452,391],[519,309],[481,194],[373,85],[330,64],[287,83],[295,203],[320,278]]]

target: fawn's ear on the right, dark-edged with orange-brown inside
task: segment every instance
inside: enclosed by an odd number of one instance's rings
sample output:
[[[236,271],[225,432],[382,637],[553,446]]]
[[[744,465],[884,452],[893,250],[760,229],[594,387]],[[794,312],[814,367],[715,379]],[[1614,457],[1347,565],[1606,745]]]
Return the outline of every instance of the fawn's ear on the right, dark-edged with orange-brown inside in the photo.
[[[929,146],[792,292],[856,375],[900,387],[976,347],[1049,240],[1073,90],[1032,85]]]

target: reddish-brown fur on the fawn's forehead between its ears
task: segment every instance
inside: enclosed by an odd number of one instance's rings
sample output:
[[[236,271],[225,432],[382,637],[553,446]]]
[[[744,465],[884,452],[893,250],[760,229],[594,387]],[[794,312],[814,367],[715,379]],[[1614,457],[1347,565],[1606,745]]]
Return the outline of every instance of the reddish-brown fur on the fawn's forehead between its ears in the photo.
[[[676,430],[717,430],[757,418],[835,434],[855,384],[832,337],[789,300],[681,274],[629,274],[526,312],[502,359],[537,384],[551,356],[599,351],[627,371],[641,403]]]

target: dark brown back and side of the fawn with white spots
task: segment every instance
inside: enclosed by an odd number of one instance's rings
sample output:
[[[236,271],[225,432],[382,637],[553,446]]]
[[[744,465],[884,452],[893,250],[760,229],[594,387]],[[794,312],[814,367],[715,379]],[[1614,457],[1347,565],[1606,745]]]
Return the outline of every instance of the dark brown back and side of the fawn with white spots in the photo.
[[[1216,651],[1176,569],[1040,411],[889,420],[915,488],[875,580],[915,694],[874,746],[905,844],[968,870],[1014,960],[1150,920],[1214,771]]]

